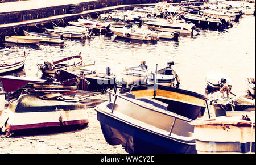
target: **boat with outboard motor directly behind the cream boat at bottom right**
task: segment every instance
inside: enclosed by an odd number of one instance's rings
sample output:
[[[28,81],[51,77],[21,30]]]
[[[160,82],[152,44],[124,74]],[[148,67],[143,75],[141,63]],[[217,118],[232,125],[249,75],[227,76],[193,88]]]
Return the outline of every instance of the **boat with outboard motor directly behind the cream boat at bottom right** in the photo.
[[[255,111],[255,99],[236,96],[227,86],[209,94],[215,116],[225,116],[227,111]]]

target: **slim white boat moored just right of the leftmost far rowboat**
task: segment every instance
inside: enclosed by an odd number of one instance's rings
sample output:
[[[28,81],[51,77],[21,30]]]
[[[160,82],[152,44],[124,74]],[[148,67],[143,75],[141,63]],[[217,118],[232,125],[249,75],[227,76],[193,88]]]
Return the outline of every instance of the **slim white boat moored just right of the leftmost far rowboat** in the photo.
[[[35,33],[35,32],[27,32],[24,31],[24,34],[26,36],[34,36],[34,37],[41,37],[42,40],[40,42],[46,42],[46,43],[64,43],[65,40],[61,39],[60,36],[53,36],[46,33]]]

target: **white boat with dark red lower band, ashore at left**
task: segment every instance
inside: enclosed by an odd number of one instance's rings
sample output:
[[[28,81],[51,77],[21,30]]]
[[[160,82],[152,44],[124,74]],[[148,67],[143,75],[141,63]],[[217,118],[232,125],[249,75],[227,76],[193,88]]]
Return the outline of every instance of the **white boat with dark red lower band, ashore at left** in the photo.
[[[7,119],[0,125],[6,136],[18,130],[88,124],[86,106],[67,95],[76,87],[29,84],[9,101]],[[29,120],[28,120],[29,119]]]

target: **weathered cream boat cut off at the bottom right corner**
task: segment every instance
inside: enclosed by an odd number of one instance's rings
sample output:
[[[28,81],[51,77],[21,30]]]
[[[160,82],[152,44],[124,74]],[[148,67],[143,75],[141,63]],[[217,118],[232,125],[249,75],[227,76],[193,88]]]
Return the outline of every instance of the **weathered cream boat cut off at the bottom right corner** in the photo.
[[[236,115],[238,113],[238,115]],[[231,112],[214,119],[196,119],[197,153],[254,153],[255,111]]]

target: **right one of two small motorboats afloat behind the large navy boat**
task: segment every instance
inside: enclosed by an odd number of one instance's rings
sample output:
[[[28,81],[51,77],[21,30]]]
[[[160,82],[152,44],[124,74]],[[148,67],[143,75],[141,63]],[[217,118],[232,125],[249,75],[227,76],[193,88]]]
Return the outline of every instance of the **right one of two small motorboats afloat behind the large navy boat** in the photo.
[[[172,65],[174,65],[173,61],[168,62],[167,67],[160,69],[156,72],[155,77],[157,84],[179,88],[180,79],[174,69],[172,69]],[[154,83],[154,74],[150,74],[150,76],[148,77],[148,82]]]

